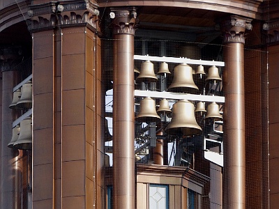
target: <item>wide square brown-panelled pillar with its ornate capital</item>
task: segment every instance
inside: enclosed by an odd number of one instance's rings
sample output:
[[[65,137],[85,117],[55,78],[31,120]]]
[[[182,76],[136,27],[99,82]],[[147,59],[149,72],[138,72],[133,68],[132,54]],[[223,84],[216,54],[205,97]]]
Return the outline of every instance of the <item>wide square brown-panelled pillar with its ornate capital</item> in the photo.
[[[52,14],[49,9],[52,8]],[[33,208],[105,208],[98,10],[91,1],[30,6]]]

